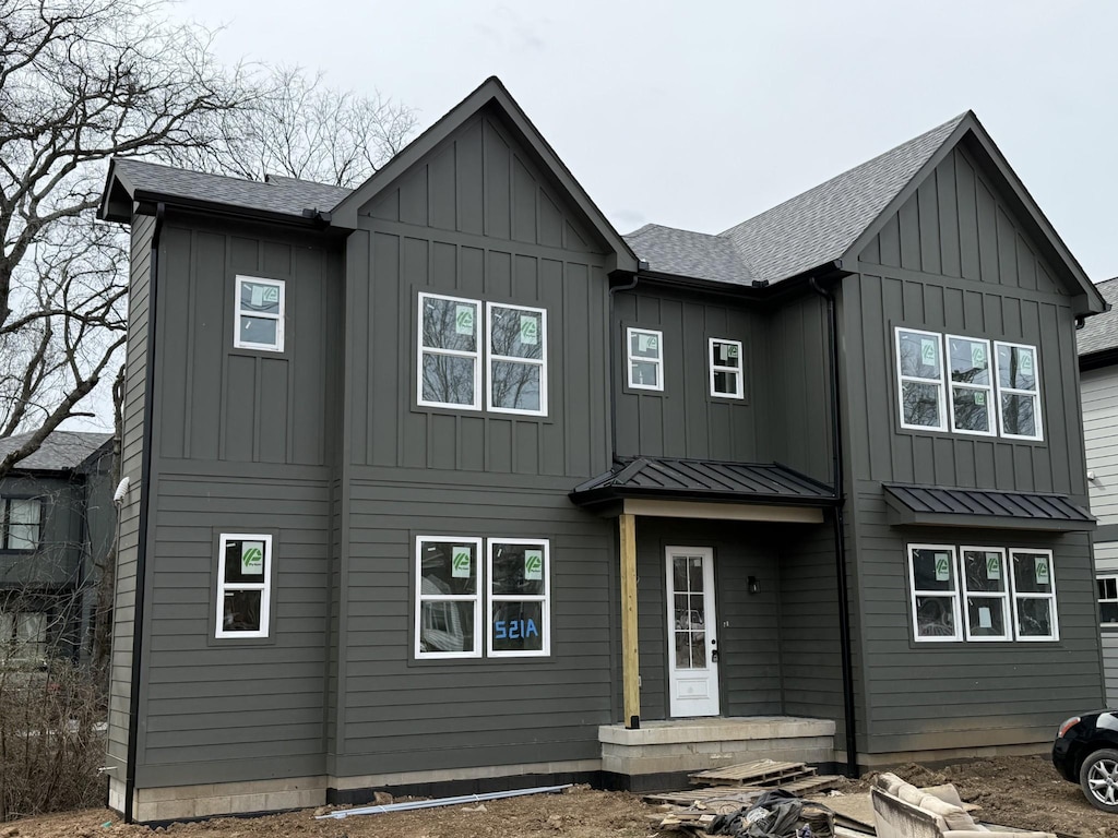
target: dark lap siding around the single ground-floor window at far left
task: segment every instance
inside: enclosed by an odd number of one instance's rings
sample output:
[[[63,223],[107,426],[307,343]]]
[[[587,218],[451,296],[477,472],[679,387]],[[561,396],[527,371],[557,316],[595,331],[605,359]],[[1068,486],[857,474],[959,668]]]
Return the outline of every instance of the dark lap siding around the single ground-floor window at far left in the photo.
[[[163,461],[164,469],[168,461]],[[322,479],[159,478],[138,784],[322,773],[330,486]],[[215,641],[221,532],[275,532],[273,638]]]

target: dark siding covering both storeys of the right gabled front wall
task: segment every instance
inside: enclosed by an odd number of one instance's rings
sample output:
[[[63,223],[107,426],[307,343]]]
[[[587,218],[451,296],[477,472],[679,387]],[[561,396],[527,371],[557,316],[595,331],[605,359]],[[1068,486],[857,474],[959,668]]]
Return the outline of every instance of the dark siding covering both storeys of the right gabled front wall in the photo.
[[[961,146],[949,154],[841,285],[868,753],[1046,742],[1069,706],[1101,699],[1087,534],[894,527],[887,517],[890,480],[1087,501],[1072,297],[974,160]],[[902,429],[897,326],[1036,346],[1043,440]],[[916,644],[910,543],[1052,550],[1060,640]]]

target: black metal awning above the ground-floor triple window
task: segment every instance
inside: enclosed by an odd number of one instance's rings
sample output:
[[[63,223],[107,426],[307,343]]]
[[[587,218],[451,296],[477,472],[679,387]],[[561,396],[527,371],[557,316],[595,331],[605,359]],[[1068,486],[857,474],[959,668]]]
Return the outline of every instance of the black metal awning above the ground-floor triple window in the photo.
[[[1077,532],[1095,528],[1095,518],[1067,495],[1036,492],[945,488],[882,484],[890,523]]]

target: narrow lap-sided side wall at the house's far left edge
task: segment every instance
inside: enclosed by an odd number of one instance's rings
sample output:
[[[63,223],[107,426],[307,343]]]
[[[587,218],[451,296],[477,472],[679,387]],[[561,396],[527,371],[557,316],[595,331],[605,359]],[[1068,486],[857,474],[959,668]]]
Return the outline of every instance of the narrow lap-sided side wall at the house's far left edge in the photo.
[[[116,575],[113,583],[113,647],[108,693],[107,760],[114,780],[124,782],[129,750],[132,648],[135,635],[136,558],[140,533],[140,478],[148,362],[148,292],[155,219],[134,216],[129,269],[129,326],[124,360],[121,477],[130,491],[120,510]]]

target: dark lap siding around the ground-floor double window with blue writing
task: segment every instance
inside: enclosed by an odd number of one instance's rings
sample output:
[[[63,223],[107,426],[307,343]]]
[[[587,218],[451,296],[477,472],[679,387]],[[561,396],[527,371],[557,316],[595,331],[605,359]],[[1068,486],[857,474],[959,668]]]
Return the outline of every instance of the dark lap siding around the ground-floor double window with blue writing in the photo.
[[[397,476],[351,487],[339,771],[596,759],[597,725],[614,721],[610,522],[566,493]],[[415,660],[417,535],[548,539],[550,657]]]

